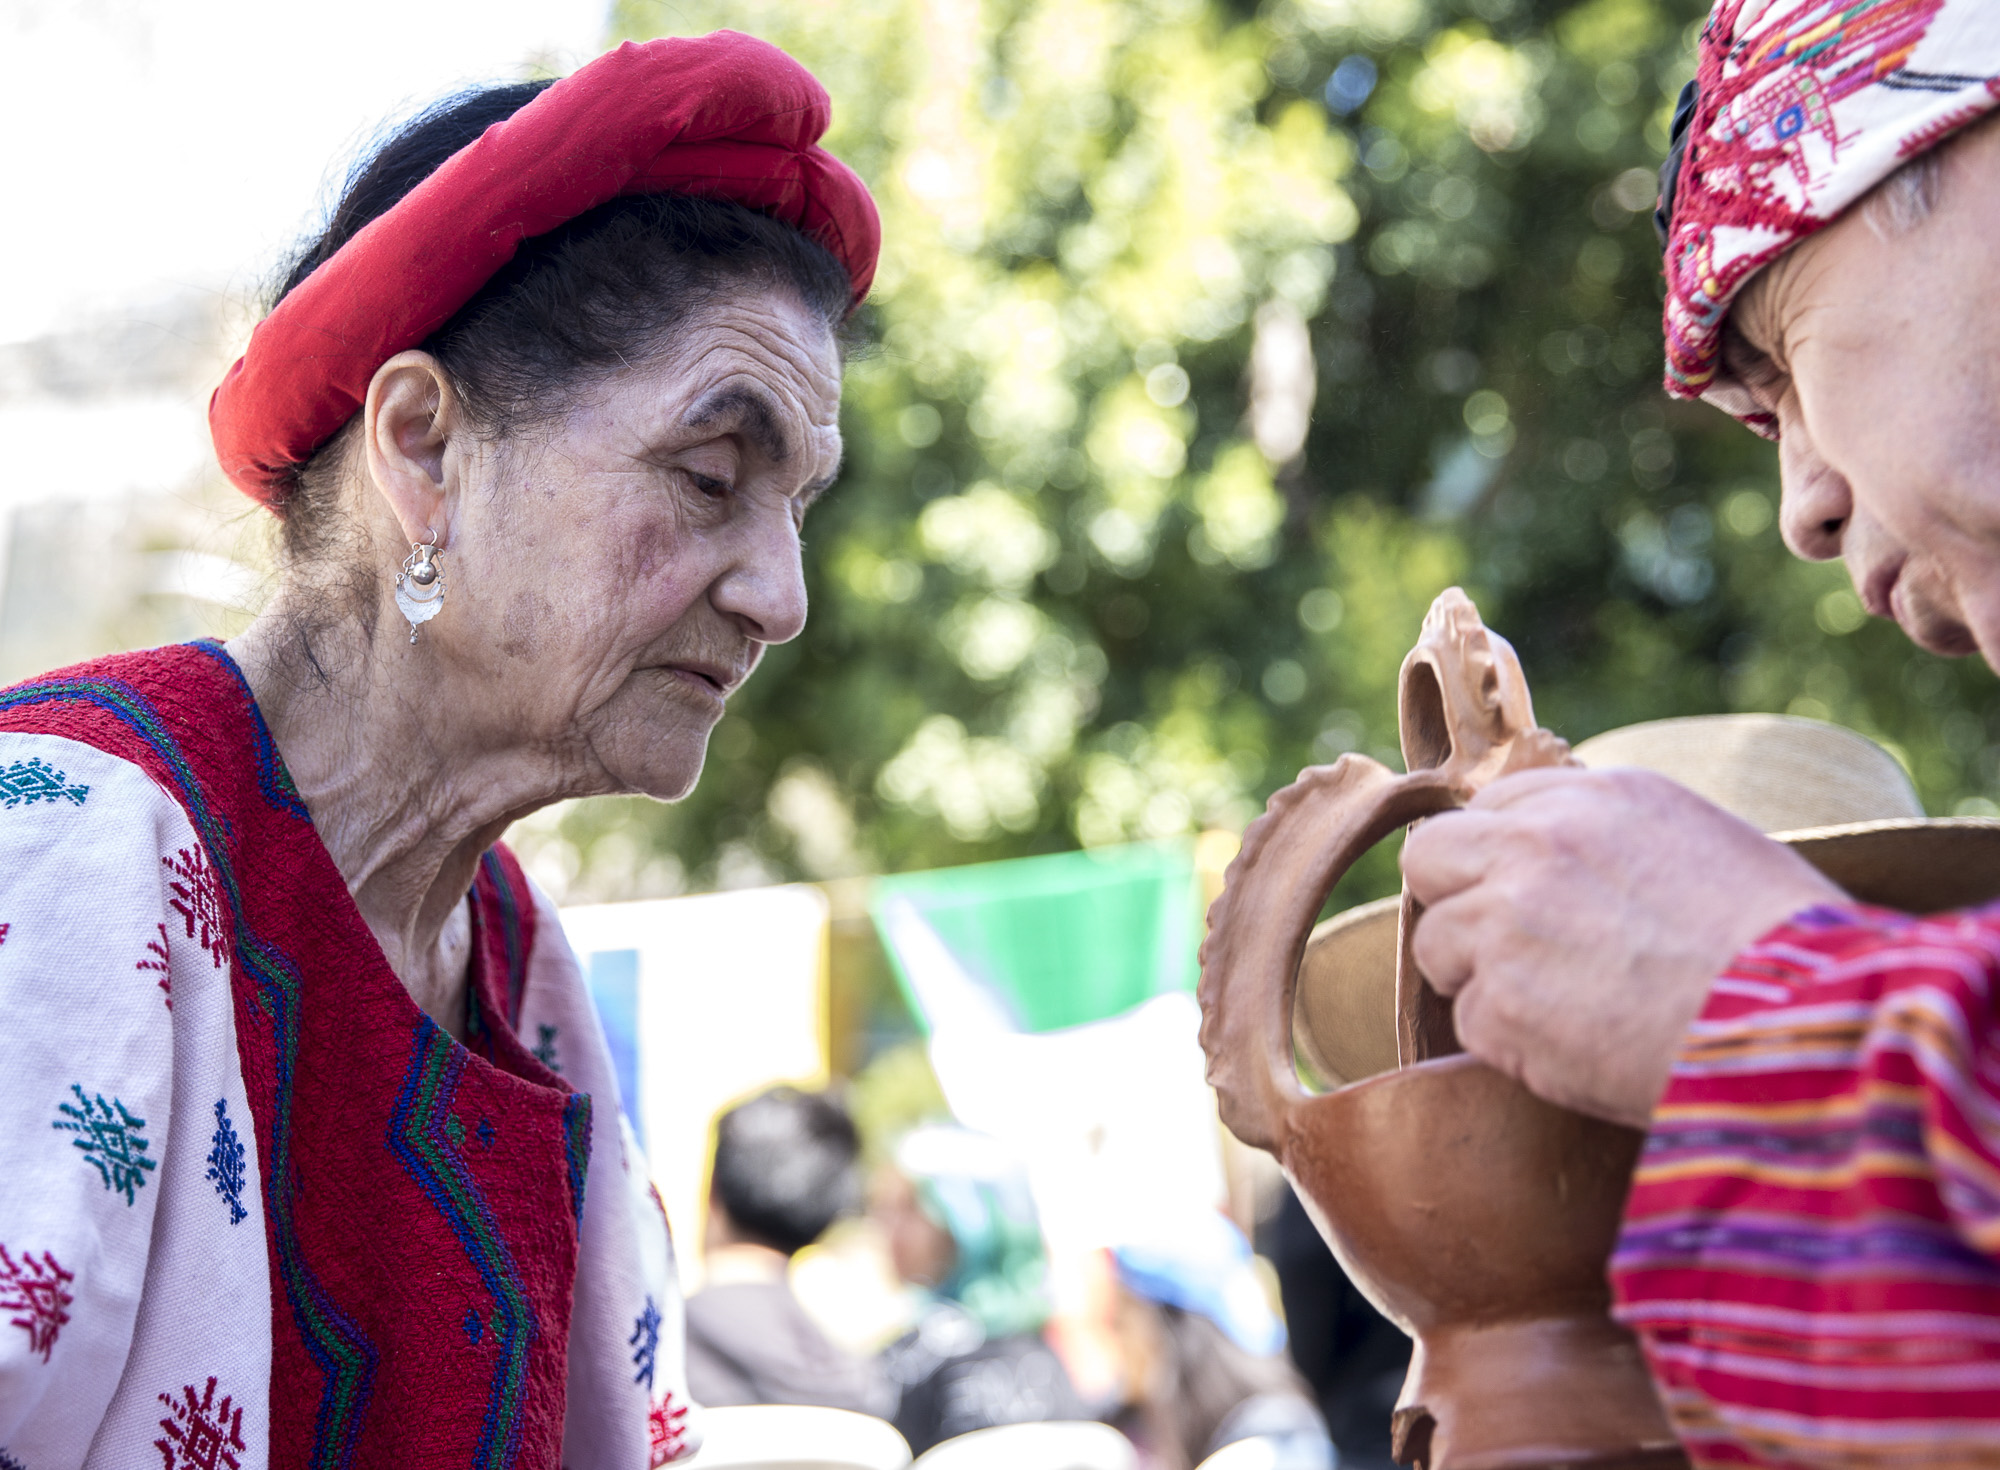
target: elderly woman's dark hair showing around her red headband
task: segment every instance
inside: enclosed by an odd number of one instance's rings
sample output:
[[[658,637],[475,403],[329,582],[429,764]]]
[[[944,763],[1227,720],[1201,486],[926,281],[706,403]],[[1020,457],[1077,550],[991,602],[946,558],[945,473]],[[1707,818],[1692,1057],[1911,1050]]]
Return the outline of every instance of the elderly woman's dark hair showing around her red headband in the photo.
[[[326,228],[294,256],[272,304],[546,86],[462,92],[398,128],[348,174]],[[852,294],[834,254],[782,220],[728,200],[618,198],[524,240],[422,348],[444,366],[472,426],[508,434],[560,414],[592,378],[656,354],[688,316],[746,284],[794,292],[830,330],[840,328]],[[338,538],[326,470],[340,438],[298,466],[280,502],[294,562],[316,560]]]

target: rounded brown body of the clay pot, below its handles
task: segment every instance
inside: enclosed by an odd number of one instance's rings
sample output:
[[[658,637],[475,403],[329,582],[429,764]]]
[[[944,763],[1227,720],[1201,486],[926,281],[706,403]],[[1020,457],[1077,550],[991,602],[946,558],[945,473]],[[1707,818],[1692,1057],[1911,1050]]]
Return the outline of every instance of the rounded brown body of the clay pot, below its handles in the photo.
[[[1440,1470],[1682,1466],[1604,1262],[1642,1136],[1470,1056],[1294,1110],[1286,1166],[1354,1284],[1416,1338],[1396,1456]]]

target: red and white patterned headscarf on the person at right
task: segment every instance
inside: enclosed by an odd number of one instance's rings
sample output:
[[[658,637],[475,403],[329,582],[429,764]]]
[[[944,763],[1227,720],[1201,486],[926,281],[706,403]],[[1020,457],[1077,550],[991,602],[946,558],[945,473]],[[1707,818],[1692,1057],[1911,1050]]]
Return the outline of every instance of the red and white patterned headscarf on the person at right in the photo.
[[[1662,174],[1666,390],[1776,436],[1720,368],[1750,278],[2000,102],[2000,6],[1718,0]]]

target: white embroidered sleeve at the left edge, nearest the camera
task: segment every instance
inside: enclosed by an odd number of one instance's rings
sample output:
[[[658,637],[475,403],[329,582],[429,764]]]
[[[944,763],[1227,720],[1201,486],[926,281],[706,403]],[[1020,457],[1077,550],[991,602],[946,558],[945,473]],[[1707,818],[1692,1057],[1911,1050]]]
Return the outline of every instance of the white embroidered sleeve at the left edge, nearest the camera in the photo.
[[[220,912],[144,770],[0,730],[0,1466],[266,1464],[264,1214]]]

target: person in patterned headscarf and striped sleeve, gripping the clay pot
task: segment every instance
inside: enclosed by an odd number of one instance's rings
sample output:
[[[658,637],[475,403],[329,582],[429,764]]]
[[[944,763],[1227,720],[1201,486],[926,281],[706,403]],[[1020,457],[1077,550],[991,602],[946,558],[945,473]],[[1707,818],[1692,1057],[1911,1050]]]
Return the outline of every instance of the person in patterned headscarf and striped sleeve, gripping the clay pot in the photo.
[[[1996,74],[1994,0],[1722,0],[1662,216],[1668,390],[2000,668]],[[1696,1462],[2000,1464],[2000,908],[1860,908],[1638,772],[1498,780],[1404,872],[1466,1046],[1650,1130],[1612,1286]]]

